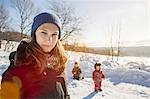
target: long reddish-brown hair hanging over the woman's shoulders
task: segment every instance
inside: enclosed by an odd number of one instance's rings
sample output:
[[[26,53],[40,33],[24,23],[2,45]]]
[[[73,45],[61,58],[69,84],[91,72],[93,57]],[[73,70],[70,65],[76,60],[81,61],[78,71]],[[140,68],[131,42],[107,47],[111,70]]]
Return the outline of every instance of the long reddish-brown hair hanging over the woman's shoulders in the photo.
[[[19,51],[19,50],[18,50]],[[37,44],[36,42],[36,37],[35,34],[32,36],[32,40],[31,42],[26,46],[26,48],[24,49],[24,54],[25,57],[22,57],[26,62],[20,60],[19,58],[16,59],[16,63],[21,62],[23,64],[31,64],[34,65],[34,68],[36,68],[38,71],[38,73],[41,73],[44,68],[46,68],[47,66],[47,57],[46,57],[46,53],[42,50],[42,48]],[[62,46],[62,43],[60,42],[60,40],[57,41],[56,46],[52,49],[52,51],[50,53],[48,53],[51,55],[51,57],[55,57],[55,60],[52,60],[53,62],[55,61],[56,64],[54,64],[53,66],[51,66],[50,68],[53,68],[54,70],[57,71],[58,74],[61,74],[62,72],[64,72],[65,69],[65,63],[67,62],[67,57],[65,55],[65,50]],[[19,55],[17,55],[17,57],[19,57]],[[19,64],[21,64],[19,63]],[[19,65],[16,64],[16,65]]]

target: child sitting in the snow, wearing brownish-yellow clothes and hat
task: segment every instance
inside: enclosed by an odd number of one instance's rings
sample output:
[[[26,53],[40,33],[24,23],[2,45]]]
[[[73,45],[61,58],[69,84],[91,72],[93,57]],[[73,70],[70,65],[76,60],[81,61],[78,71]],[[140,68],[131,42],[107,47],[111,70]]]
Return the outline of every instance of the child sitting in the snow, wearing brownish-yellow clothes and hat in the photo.
[[[74,68],[72,69],[73,79],[81,80],[84,79],[84,77],[81,75],[81,69],[78,62],[75,62]]]

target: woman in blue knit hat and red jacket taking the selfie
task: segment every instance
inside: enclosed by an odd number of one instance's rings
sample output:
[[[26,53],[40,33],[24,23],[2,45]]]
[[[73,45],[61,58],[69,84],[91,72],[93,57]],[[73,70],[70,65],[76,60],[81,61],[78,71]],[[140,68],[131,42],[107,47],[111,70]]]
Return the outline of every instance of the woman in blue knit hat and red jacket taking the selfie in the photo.
[[[18,46],[15,66],[6,70],[0,97],[69,99],[64,74],[67,57],[60,37],[61,22],[56,15],[40,13],[35,16],[31,41]]]

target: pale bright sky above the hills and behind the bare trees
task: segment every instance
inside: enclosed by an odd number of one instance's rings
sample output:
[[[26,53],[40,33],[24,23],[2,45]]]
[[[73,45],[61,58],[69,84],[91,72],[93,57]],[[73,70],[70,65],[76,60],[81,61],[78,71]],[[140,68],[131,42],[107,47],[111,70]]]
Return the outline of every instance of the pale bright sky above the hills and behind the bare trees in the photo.
[[[7,4],[9,0],[6,0]],[[37,8],[47,11],[46,0],[32,0]],[[149,0],[64,0],[83,19],[80,42],[87,46],[150,45]],[[42,5],[41,5],[42,4]],[[10,5],[10,4],[9,4]],[[9,6],[8,5],[8,6]],[[10,7],[12,10],[12,8]],[[13,11],[12,11],[13,12]],[[11,12],[11,16],[14,13]]]

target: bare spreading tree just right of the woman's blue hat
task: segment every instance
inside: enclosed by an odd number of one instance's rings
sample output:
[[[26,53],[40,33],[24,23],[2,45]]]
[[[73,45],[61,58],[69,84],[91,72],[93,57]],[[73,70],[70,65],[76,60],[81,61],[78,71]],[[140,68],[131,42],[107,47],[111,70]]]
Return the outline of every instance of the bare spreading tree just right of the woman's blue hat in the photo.
[[[74,9],[64,1],[48,0],[48,2],[50,11],[61,19],[63,32],[61,41],[65,41],[71,36],[79,35],[81,18],[75,15]]]

